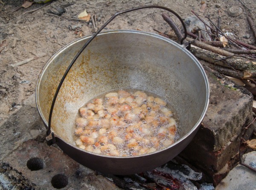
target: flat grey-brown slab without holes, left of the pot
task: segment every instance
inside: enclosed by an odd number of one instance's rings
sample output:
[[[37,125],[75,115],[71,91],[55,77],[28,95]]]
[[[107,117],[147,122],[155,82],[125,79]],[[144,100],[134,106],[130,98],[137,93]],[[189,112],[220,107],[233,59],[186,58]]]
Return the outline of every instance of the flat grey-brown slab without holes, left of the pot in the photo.
[[[0,126],[0,160],[29,139],[44,141],[46,130],[35,107],[23,105]]]

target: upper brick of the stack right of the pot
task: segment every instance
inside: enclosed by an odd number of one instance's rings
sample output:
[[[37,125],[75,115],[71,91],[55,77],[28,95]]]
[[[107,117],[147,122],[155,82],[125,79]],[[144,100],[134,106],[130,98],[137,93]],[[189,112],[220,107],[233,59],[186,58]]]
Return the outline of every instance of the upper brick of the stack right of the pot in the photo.
[[[194,141],[209,151],[220,150],[230,138],[241,133],[241,127],[252,114],[253,96],[249,91],[205,67],[210,98],[203,125]]]

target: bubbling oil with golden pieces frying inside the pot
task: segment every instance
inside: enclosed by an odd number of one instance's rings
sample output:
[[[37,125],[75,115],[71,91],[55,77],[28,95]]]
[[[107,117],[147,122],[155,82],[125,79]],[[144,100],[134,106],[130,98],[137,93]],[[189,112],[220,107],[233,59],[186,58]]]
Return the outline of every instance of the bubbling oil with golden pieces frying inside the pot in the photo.
[[[177,117],[159,96],[138,89],[99,95],[79,109],[76,145],[110,156],[135,156],[169,147],[179,137]]]

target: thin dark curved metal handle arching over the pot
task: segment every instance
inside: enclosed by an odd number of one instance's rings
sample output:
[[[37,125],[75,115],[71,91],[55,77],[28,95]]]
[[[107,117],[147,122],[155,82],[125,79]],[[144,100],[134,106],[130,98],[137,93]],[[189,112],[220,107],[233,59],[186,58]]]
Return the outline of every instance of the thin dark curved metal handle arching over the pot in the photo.
[[[102,25],[102,27],[100,27],[100,29],[94,33],[94,35],[84,44],[84,46],[80,49],[80,51],[76,54],[75,58],[72,60],[72,62],[70,63],[70,65],[68,66],[66,72],[64,73],[63,77],[61,78],[61,81],[58,85],[58,88],[56,89],[56,92],[55,92],[55,95],[52,99],[52,105],[51,105],[51,109],[50,109],[50,112],[49,112],[49,120],[48,120],[48,128],[47,128],[47,131],[46,131],[46,134],[49,135],[51,133],[51,121],[52,121],[52,111],[53,111],[53,108],[54,108],[54,104],[55,104],[55,101],[56,101],[56,98],[58,96],[58,92],[59,90],[61,89],[61,85],[62,83],[64,82],[64,79],[66,78],[68,72],[70,71],[71,67],[73,66],[73,64],[75,63],[76,59],[79,57],[79,55],[84,51],[84,49],[89,45],[89,43],[96,37],[96,35],[99,34],[99,32],[102,31],[102,29],[104,29],[116,16],[118,16],[119,14],[124,14],[124,13],[127,13],[127,12],[131,12],[131,11],[136,11],[136,10],[139,10],[139,9],[147,9],[147,8],[158,8],[158,9],[164,9],[166,11],[169,11],[171,12],[172,14],[174,14],[179,20],[180,22],[182,23],[182,26],[184,28],[184,37],[180,40],[180,44],[182,45],[183,44],[183,40],[186,39],[186,26],[183,22],[183,20],[181,19],[181,17],[176,13],[174,12],[172,9],[169,9],[167,7],[164,7],[164,6],[157,6],[157,5],[149,5],[149,6],[140,6],[140,7],[137,7],[137,8],[133,8],[133,9],[128,9],[128,10],[125,10],[125,11],[121,11],[121,12],[117,12],[116,14],[114,14],[105,24]],[[52,136],[53,137],[53,136]]]

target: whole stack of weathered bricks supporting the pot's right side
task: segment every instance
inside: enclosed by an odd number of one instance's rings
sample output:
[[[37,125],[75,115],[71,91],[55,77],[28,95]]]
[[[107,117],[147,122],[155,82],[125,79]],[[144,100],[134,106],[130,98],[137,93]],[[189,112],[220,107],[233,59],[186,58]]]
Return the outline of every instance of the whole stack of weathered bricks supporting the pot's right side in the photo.
[[[195,138],[179,156],[216,185],[239,160],[241,134],[253,119],[253,96],[218,72],[204,69],[210,86],[209,108]],[[244,138],[252,132],[251,125]]]

